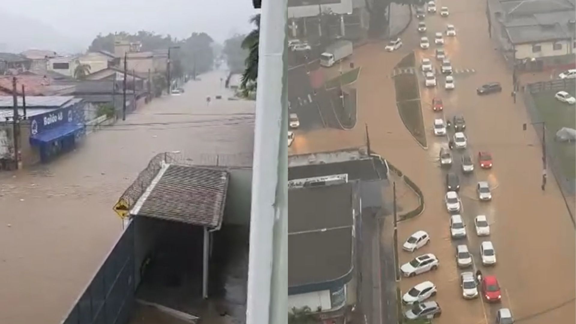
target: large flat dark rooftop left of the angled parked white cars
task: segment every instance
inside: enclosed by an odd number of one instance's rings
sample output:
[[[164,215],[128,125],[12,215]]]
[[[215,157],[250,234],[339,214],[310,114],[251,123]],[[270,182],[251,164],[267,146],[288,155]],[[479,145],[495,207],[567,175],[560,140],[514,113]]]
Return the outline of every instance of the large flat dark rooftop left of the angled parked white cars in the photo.
[[[353,268],[351,183],[288,191],[288,287],[323,283]]]

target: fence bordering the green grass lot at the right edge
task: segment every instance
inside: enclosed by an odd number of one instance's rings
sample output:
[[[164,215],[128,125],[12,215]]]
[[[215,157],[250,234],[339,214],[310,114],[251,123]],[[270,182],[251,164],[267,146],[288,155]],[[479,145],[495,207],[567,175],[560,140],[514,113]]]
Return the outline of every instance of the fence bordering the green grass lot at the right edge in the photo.
[[[556,80],[556,81],[562,81],[562,80]],[[524,92],[524,103],[526,106],[526,110],[528,110],[528,115],[530,116],[530,119],[532,120],[532,122],[541,122],[544,120],[542,118],[542,116],[540,115],[540,112],[536,108],[536,103],[534,102],[534,98],[532,96],[532,93],[544,91],[542,89],[556,90],[554,87],[556,87],[556,86],[558,86],[558,84],[560,84],[560,82],[556,82],[556,81],[537,82],[537,85],[528,85],[527,86],[527,89],[530,89],[530,90]],[[570,84],[570,82],[566,82],[566,83]],[[574,80],[572,81],[572,84],[573,84],[572,86],[574,86]],[[536,92],[532,92],[531,89],[536,89]],[[564,196],[564,200],[566,201],[567,197],[571,197],[576,193],[576,180],[567,178],[562,171],[562,165],[560,164],[559,155],[558,155],[558,152],[556,152],[556,149],[555,149],[556,145],[554,143],[556,134],[553,130],[550,130],[550,129],[544,130],[544,127],[542,127],[541,125],[536,125],[535,130],[536,130],[536,133],[538,134],[538,137],[540,139],[540,144],[542,144],[543,131],[546,131],[546,134],[545,134],[546,135],[546,148],[547,148],[546,158],[547,158],[548,167],[550,167],[552,169],[552,173],[554,174],[554,178],[556,179],[556,182],[558,182],[559,187],[560,187],[560,191],[562,191],[562,195]],[[569,213],[570,213],[570,217],[574,220],[574,215],[572,214],[570,208],[569,208]]]

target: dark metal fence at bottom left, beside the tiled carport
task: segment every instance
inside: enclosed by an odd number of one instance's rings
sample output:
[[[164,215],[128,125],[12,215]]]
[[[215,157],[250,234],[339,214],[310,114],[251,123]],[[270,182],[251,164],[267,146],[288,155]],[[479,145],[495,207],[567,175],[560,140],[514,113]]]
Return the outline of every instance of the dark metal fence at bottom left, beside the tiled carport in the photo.
[[[134,306],[134,223],[124,231],[63,324],[125,324]]]

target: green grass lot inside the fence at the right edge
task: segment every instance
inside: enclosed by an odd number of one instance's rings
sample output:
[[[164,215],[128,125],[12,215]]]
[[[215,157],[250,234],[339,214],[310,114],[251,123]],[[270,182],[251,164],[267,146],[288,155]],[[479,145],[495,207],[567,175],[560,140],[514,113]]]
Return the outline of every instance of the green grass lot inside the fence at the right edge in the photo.
[[[567,91],[574,95],[574,90]],[[546,136],[554,137],[562,127],[576,128],[576,110],[574,105],[561,103],[554,98],[556,91],[535,93],[536,109],[546,123]],[[541,127],[536,125],[535,127]],[[548,141],[547,141],[548,142]],[[562,173],[568,179],[576,178],[576,146],[574,143],[552,141],[552,155],[558,157]]]

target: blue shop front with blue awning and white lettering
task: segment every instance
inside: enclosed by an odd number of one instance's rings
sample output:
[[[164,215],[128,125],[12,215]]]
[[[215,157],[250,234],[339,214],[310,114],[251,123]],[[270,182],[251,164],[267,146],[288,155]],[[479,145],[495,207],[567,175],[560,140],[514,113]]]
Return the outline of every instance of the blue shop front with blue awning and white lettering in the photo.
[[[29,122],[30,145],[39,150],[42,163],[73,150],[85,135],[84,110],[79,103],[35,115]]]

